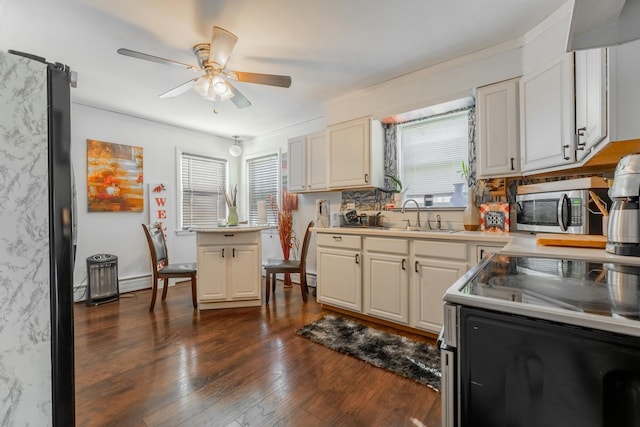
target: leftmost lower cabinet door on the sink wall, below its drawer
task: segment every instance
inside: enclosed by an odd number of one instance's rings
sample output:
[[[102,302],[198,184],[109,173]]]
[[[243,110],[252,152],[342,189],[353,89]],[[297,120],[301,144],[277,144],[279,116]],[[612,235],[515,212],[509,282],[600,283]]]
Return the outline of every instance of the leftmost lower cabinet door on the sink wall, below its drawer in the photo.
[[[318,248],[318,301],[362,312],[359,251]]]

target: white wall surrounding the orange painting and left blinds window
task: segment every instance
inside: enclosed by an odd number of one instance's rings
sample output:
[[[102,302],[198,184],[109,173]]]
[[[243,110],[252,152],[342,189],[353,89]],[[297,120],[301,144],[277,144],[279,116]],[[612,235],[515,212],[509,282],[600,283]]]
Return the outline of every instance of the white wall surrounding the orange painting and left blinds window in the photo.
[[[147,185],[167,185],[171,205],[176,203],[176,149],[229,160],[230,183],[238,182],[239,160],[229,155],[231,140],[190,131],[149,120],[139,119],[80,104],[71,106],[71,157],[77,189],[77,256],[74,271],[76,297],[84,294],[87,278],[86,258],[108,253],[118,257],[120,290],[140,289],[151,285],[151,259],[142,230],[149,223]],[[145,207],[134,212],[87,211],[87,139],[143,147]],[[167,245],[171,262],[195,262],[196,242],[192,233],[176,234],[177,213],[171,213]]]

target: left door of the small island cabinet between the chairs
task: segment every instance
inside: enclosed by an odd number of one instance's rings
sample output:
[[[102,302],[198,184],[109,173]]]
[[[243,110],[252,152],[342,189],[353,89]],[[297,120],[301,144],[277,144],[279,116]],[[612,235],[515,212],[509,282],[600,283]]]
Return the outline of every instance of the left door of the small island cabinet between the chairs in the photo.
[[[228,298],[227,256],[225,246],[198,248],[198,300],[220,301]]]

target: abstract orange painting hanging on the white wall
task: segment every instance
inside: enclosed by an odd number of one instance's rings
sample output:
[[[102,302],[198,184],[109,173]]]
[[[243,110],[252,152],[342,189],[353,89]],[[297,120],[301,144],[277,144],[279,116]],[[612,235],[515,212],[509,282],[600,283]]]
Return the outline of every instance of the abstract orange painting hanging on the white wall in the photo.
[[[87,139],[89,212],[142,212],[142,147]]]

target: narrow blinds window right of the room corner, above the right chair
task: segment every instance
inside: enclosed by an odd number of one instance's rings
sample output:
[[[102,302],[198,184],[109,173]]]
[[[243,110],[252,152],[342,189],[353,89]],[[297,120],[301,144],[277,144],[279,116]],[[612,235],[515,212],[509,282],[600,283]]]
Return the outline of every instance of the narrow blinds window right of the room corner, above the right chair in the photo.
[[[272,196],[278,201],[278,154],[247,160],[247,195],[250,223],[258,223],[259,200],[267,203],[267,222],[278,222],[269,200]]]

